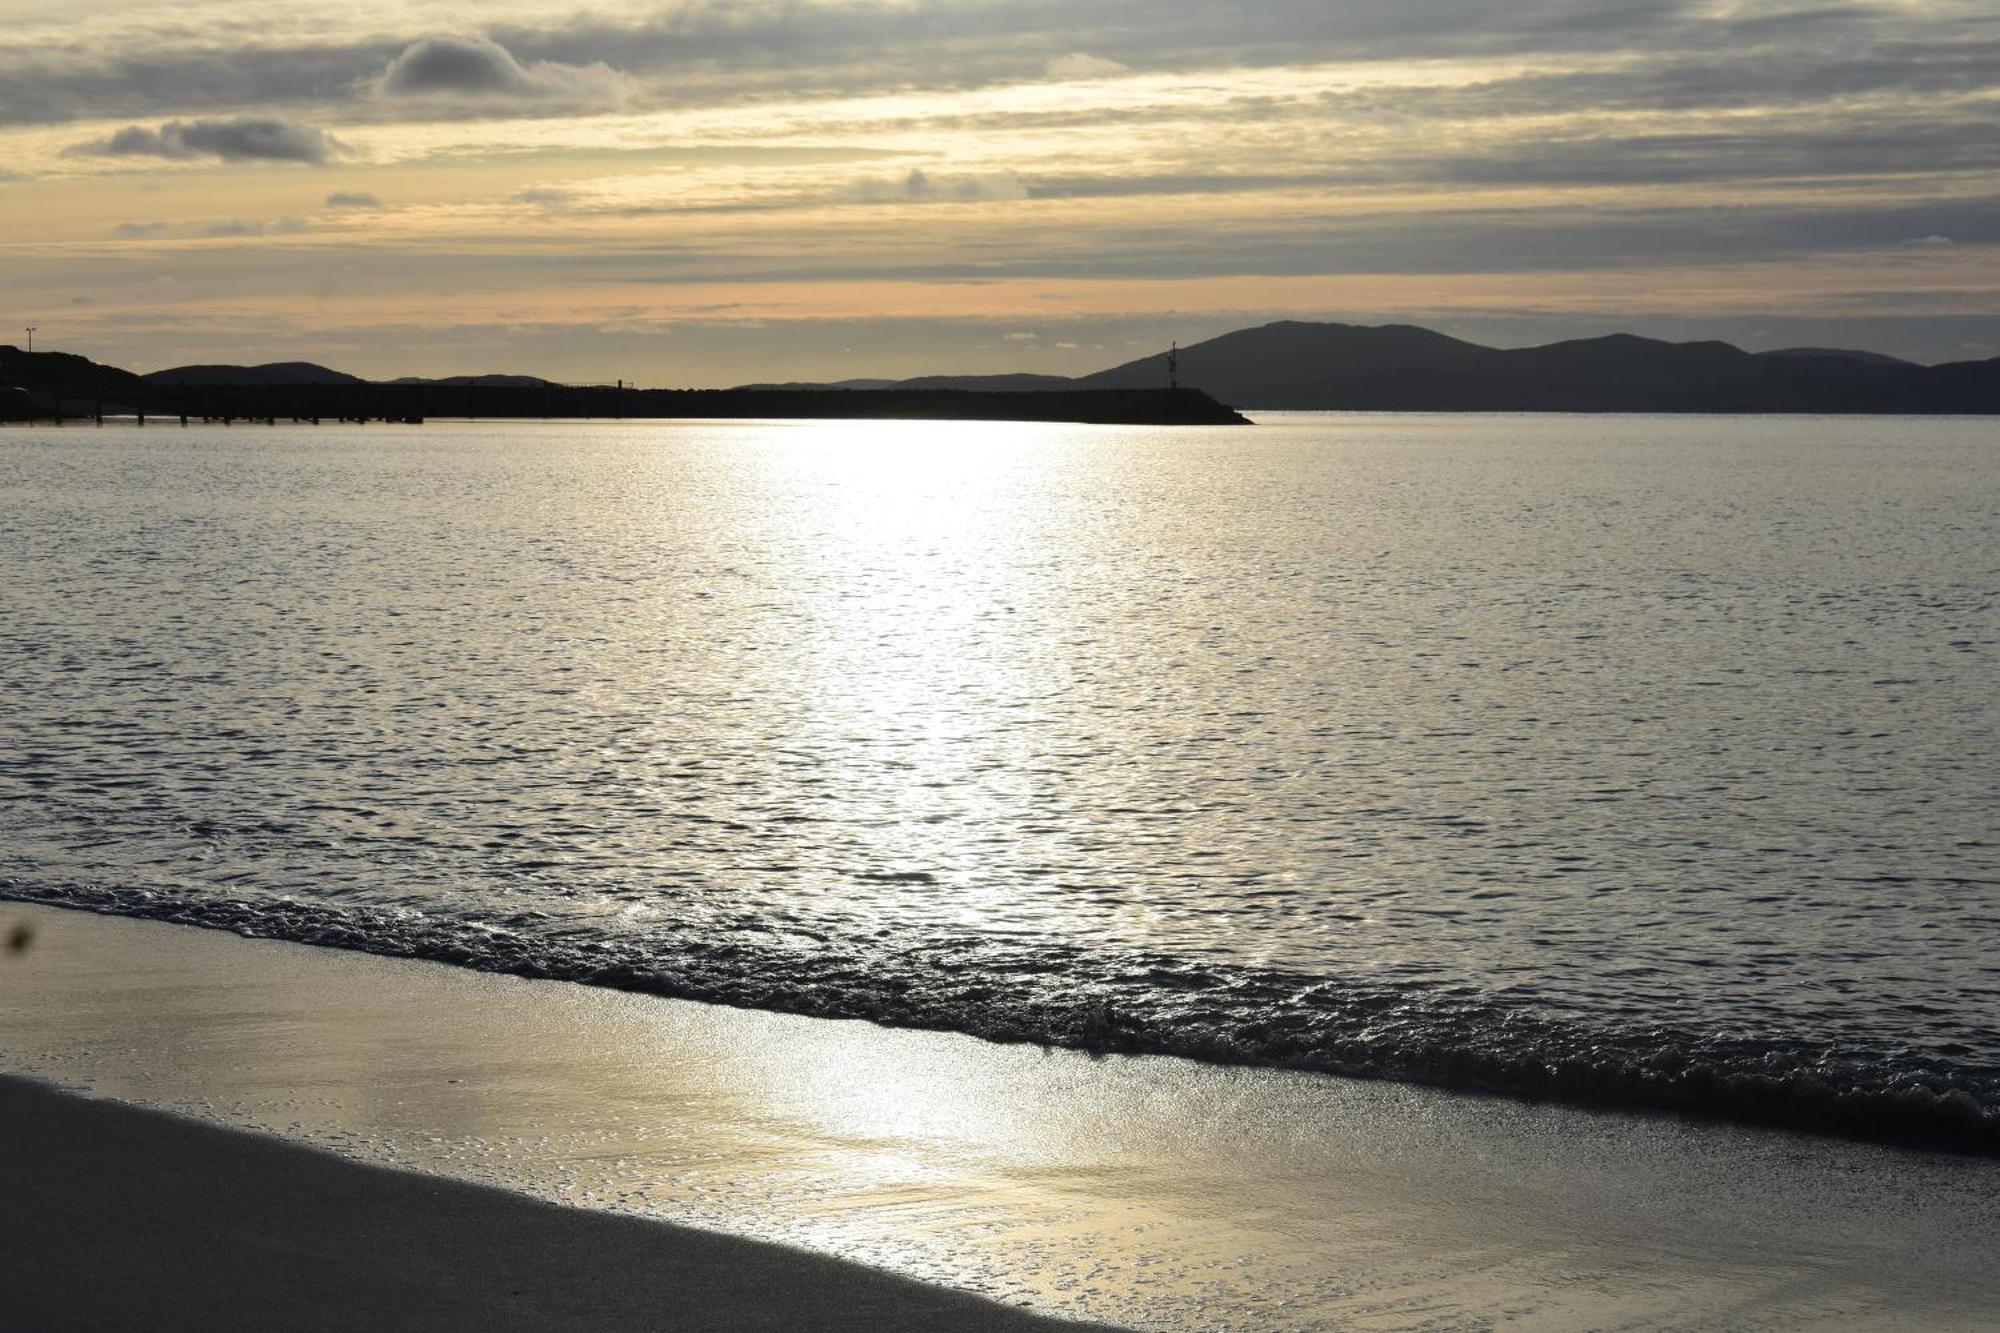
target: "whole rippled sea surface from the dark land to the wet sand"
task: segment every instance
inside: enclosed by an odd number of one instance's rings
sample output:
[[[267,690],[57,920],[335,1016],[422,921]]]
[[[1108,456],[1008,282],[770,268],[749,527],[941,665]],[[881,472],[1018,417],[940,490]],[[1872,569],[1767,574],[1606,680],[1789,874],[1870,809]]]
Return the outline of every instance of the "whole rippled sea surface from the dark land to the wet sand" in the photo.
[[[1992,1147],[1994,440],[0,430],[0,893]]]

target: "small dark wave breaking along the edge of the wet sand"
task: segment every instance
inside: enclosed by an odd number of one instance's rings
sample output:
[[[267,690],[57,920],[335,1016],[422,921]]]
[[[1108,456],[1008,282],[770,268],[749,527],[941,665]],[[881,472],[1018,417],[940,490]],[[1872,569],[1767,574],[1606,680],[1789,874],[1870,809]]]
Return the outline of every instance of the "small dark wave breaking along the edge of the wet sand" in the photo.
[[[440,911],[178,889],[0,881],[0,897],[424,959],[742,1009],[962,1031],[1116,1055],[1174,1055],[1570,1105],[1666,1111],[2000,1155],[2000,1073],[1930,1055],[1864,1059],[1782,1037],[1592,1031],[1530,1001],[1422,983],[1068,947],[786,939],[756,921],[700,937],[576,931],[540,911]]]

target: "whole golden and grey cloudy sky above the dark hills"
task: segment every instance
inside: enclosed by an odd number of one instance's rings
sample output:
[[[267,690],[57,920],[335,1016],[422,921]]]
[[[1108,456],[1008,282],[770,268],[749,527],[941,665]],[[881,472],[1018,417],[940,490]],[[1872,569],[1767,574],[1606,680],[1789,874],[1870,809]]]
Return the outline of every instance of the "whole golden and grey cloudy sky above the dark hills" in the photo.
[[[0,0],[0,340],[646,386],[2000,354],[2000,0]]]

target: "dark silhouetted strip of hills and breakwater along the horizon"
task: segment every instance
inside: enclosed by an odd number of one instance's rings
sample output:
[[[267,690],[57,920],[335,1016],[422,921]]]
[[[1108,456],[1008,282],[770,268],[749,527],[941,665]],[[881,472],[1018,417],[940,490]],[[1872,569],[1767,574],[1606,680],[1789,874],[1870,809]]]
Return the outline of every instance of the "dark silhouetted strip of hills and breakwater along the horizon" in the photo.
[[[154,416],[850,416],[1236,424],[1244,410],[2000,414],[2000,358],[1922,366],[1878,352],[1632,334],[1492,348],[1412,324],[1276,322],[1076,378],[636,388],[528,374],[362,380],[310,362],[132,374],[0,346],[0,420],[60,410]]]

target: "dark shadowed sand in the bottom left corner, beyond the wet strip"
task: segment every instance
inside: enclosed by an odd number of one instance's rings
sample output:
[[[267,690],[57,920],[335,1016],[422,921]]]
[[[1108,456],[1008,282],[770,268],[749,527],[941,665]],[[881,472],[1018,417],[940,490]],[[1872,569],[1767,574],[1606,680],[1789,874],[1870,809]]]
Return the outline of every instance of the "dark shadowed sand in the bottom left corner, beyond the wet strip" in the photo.
[[[22,1079],[0,1141],[8,1329],[1092,1327]]]

